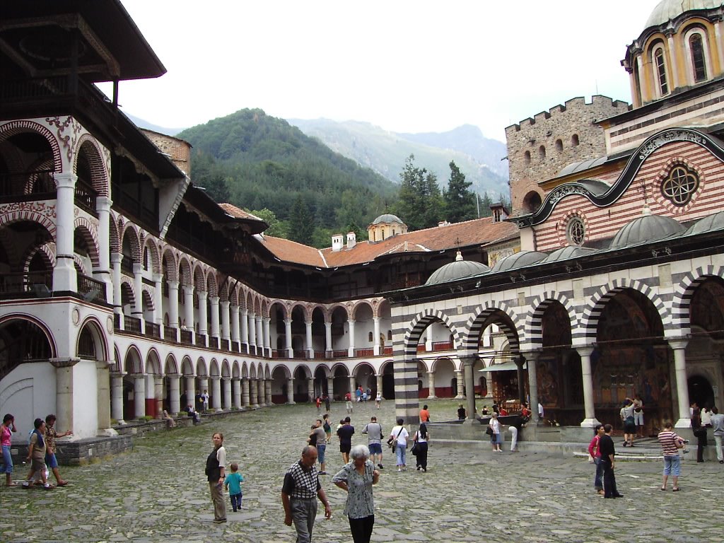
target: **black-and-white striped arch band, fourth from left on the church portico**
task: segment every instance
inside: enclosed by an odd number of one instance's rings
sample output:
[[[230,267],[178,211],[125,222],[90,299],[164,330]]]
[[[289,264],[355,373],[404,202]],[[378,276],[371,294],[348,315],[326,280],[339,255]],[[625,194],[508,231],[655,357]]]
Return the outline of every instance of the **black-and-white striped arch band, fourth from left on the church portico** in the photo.
[[[626,289],[636,290],[636,292],[644,295],[644,297],[652,303],[661,319],[665,335],[670,330],[673,331],[671,313],[659,295],[657,295],[649,285],[636,279],[626,279],[626,277],[623,277],[621,279],[614,279],[613,282],[598,287],[596,292],[591,296],[589,303],[586,304],[581,315],[578,333],[573,337],[574,343],[581,344],[596,341],[598,321],[606,304],[615,297],[615,295]],[[671,332],[668,334],[671,334]],[[576,340],[578,341],[576,342]]]

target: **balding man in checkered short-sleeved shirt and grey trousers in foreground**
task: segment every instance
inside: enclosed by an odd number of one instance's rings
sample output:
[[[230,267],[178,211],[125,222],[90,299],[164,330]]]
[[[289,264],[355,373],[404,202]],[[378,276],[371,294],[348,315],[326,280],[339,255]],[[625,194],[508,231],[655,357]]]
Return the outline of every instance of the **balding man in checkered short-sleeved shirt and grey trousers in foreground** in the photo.
[[[297,531],[297,543],[310,543],[312,529],[317,512],[317,498],[324,504],[324,518],[332,516],[327,494],[319,482],[316,471],[317,450],[307,445],[302,450],[302,458],[292,464],[284,476],[282,486],[282,505],[284,505],[284,523]]]

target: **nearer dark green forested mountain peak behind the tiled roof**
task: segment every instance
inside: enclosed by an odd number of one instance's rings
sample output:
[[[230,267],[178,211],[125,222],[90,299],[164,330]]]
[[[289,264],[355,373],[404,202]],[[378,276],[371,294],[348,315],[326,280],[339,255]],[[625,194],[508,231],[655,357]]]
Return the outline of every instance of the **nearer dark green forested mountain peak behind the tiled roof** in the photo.
[[[302,243],[328,246],[332,233],[366,227],[397,196],[390,180],[261,109],[242,109],[177,137],[193,146],[196,185],[216,201],[272,211],[282,222],[274,235],[298,233],[312,222],[310,239],[290,235]]]

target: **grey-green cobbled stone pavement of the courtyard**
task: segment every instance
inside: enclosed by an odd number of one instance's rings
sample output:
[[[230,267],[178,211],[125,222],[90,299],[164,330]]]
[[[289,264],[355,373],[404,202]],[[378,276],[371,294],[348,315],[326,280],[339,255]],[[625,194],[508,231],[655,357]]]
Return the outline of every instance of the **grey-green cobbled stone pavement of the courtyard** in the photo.
[[[433,416],[434,406],[433,407]],[[392,402],[355,404],[354,443],[371,415],[389,432]],[[332,405],[332,421],[345,416]],[[279,499],[286,468],[299,458],[312,405],[278,406],[193,428],[138,438],[135,449],[88,466],[62,467],[67,487],[45,492],[0,487],[0,541],[16,542],[293,542]],[[333,428],[336,427],[333,426]],[[243,473],[243,510],[212,523],[203,476],[211,434],[224,433],[229,462]],[[618,445],[618,443],[617,443]],[[620,446],[620,445],[618,445]],[[508,444],[505,445],[508,447]],[[387,449],[385,449],[387,451]],[[691,457],[691,455],[686,455]],[[323,484],[332,518],[318,518],[314,542],[349,542],[345,493],[329,482],[341,467],[334,444]],[[481,447],[435,447],[429,471],[397,473],[390,454],[375,487],[376,542],[723,542],[724,466],[686,458],[682,491],[660,492],[658,462],[620,463],[620,500],[594,494],[593,466],[543,453],[494,454]],[[15,479],[26,466],[16,466]],[[320,508],[323,512],[323,508]]]

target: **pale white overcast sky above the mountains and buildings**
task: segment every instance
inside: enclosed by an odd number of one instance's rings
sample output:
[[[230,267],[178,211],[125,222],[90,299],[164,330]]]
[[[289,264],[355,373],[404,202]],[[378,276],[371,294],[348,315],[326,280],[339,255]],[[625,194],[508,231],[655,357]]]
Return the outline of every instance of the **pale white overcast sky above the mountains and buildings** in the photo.
[[[169,128],[260,108],[505,141],[576,96],[630,102],[620,60],[658,2],[122,0],[167,74],[121,82],[119,103]]]

